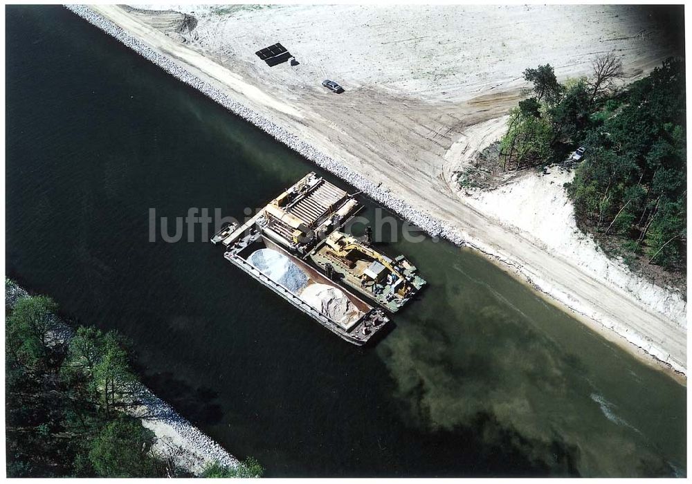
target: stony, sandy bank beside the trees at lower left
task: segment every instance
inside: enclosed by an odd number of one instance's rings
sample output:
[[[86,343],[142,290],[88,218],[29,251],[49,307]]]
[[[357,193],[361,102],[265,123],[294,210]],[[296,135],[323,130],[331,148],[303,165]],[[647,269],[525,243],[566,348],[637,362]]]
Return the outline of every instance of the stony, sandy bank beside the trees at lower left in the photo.
[[[24,288],[14,283],[5,285],[6,305],[12,307],[24,297],[28,297],[28,292]],[[55,317],[55,326],[57,339],[65,341],[72,337],[73,332],[70,326],[57,317]],[[152,448],[154,454],[163,459],[170,457],[181,469],[196,475],[214,461],[229,467],[238,465],[237,458],[181,417],[143,384],[136,384],[132,391],[134,398],[141,402],[141,405],[129,409],[128,413],[141,418],[142,425],[154,432],[156,436]]]

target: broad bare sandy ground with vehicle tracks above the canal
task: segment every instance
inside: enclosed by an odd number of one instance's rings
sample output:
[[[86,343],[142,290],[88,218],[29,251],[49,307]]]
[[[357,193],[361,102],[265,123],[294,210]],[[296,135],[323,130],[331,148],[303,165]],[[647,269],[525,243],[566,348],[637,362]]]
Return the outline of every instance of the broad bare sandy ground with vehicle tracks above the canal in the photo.
[[[449,178],[478,145],[501,134],[498,118],[521,98],[525,68],[549,62],[558,78],[588,75],[595,55],[615,50],[632,80],[675,55],[668,30],[641,8],[174,6],[197,19],[192,30],[181,30],[182,16],[172,12],[91,8],[345,167],[453,224],[469,245],[590,324],[686,373],[686,324],[678,313],[610,283],[584,266],[579,251],[551,250],[521,224],[498,222],[486,205],[460,197]],[[277,41],[300,65],[269,68],[254,55]],[[329,93],[320,85],[325,78],[346,92]],[[561,230],[572,230],[569,221]]]

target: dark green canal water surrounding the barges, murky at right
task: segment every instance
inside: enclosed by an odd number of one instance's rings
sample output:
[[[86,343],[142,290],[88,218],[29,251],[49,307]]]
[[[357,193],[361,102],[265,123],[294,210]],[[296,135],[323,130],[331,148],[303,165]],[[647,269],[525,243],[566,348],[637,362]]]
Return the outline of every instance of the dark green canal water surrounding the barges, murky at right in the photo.
[[[356,348],[219,248],[149,243],[150,207],[238,216],[316,168],[60,7],[6,14],[8,274],[130,337],[230,452],[271,476],[686,474],[686,389],[471,252],[383,245],[430,287]]]

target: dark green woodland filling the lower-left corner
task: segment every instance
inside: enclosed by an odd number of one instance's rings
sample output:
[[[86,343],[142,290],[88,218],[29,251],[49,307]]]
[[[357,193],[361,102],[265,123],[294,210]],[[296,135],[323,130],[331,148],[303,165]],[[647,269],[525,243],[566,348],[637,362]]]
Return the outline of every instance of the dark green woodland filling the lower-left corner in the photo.
[[[82,327],[69,342],[53,337],[60,322],[47,297],[9,294],[6,307],[8,476],[184,474],[172,454],[152,452],[154,435],[140,420],[114,411],[136,382],[122,337]],[[258,474],[250,464],[239,469]]]

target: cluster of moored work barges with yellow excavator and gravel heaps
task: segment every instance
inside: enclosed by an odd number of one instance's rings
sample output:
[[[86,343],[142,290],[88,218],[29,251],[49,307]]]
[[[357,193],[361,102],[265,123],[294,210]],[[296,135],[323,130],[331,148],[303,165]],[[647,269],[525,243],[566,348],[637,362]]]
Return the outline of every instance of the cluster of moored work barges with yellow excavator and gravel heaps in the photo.
[[[212,237],[224,257],[347,342],[362,346],[425,281],[342,232],[360,210],[353,195],[309,173],[248,221]],[[370,278],[370,279],[368,279]]]

